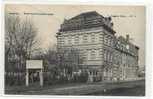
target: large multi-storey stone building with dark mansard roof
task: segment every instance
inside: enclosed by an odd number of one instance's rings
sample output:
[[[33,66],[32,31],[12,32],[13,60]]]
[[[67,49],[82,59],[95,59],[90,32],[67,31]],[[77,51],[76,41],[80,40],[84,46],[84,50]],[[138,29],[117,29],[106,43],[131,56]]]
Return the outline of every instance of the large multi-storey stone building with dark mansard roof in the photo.
[[[126,38],[115,36],[111,17],[96,11],[64,20],[57,33],[58,50],[74,48],[83,57],[91,78],[128,80],[136,78],[139,48]],[[93,81],[93,79],[91,79]]]

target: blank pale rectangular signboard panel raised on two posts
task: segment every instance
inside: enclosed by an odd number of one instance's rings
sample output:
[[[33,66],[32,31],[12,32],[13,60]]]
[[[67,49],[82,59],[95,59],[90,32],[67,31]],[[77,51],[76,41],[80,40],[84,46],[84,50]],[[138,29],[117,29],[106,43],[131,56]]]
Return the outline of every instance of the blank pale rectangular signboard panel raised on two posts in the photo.
[[[26,69],[43,69],[42,60],[27,60]]]

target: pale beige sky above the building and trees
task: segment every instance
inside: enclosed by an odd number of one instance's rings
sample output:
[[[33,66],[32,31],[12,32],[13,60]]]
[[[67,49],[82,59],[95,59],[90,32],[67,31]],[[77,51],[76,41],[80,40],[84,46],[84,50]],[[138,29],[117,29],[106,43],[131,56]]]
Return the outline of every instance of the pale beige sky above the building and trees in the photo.
[[[20,17],[31,19],[38,29],[37,38],[40,46],[47,49],[56,44],[56,33],[64,19],[70,19],[80,13],[97,11],[104,17],[112,17],[116,36],[130,35],[131,42],[139,50],[139,65],[145,65],[146,12],[144,6],[109,6],[109,5],[5,5],[8,13],[19,13]],[[28,15],[24,13],[29,13]],[[32,14],[33,13],[33,14]]]

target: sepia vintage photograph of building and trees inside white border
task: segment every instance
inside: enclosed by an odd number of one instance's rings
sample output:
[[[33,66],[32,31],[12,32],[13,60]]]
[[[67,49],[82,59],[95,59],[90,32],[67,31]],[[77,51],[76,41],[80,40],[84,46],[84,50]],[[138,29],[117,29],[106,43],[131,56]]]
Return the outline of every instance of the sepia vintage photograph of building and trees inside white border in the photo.
[[[145,96],[145,6],[4,7],[6,95]]]

